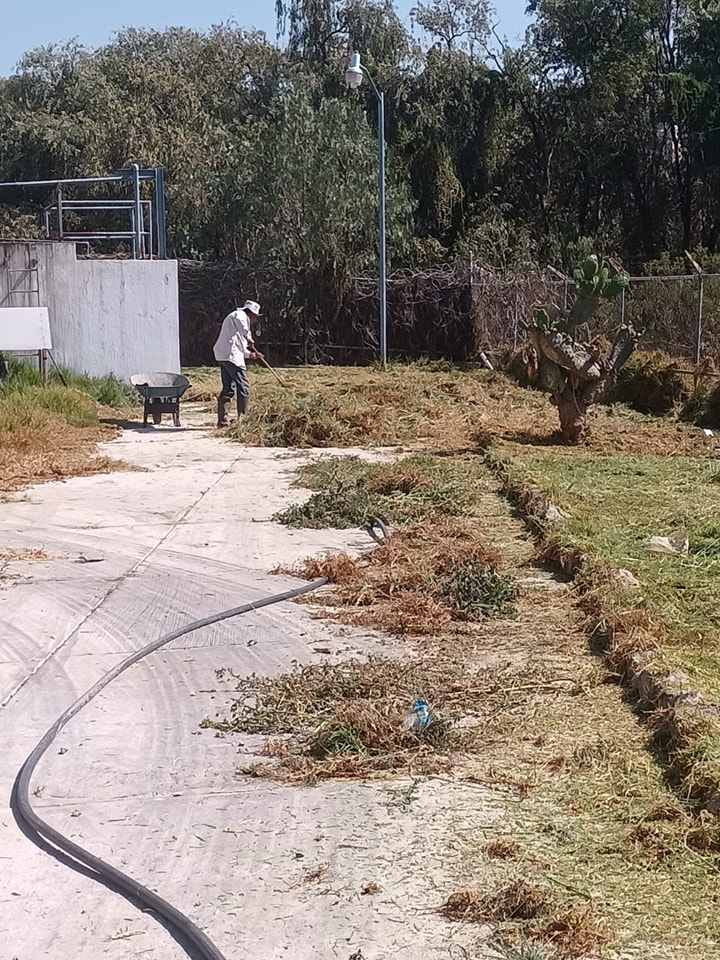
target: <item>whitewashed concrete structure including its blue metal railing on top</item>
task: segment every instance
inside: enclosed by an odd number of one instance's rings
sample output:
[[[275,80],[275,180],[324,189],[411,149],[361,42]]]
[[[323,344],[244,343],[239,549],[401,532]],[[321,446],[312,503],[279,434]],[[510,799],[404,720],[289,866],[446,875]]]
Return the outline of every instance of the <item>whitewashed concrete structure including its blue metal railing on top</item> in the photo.
[[[161,168],[133,164],[0,183],[0,203],[33,196],[45,226],[44,239],[0,241],[0,351],[38,353],[43,370],[52,350],[58,365],[97,377],[180,369],[163,180]]]

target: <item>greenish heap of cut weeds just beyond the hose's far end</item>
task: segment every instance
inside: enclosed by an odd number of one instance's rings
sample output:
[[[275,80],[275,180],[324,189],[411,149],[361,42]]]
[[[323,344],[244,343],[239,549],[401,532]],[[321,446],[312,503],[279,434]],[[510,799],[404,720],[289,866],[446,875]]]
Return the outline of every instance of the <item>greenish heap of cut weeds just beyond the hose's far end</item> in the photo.
[[[397,524],[462,516],[472,509],[473,472],[470,460],[428,454],[393,463],[323,457],[298,471],[298,485],[314,491],[310,499],[273,519],[293,527],[348,529],[376,517]]]

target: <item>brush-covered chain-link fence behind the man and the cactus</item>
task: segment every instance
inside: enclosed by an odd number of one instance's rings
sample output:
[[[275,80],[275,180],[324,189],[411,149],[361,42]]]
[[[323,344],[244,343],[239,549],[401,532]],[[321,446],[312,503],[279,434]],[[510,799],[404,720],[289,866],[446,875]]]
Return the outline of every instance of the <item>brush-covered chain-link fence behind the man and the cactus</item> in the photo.
[[[522,345],[536,304],[571,305],[574,284],[560,276],[547,271],[505,279],[469,263],[396,275],[387,291],[389,355],[500,357]],[[212,363],[222,318],[245,296],[263,304],[260,337],[278,362],[367,362],[378,352],[378,294],[374,278],[325,289],[314,277],[181,262],[183,363]],[[593,334],[611,339],[621,323],[641,334],[641,349],[695,363],[720,360],[720,275],[633,277],[619,300],[601,305]]]

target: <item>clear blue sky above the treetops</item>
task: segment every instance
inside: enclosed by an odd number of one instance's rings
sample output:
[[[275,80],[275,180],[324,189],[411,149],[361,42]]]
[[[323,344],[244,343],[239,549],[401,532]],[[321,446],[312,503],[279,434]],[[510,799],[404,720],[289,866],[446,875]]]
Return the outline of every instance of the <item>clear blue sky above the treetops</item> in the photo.
[[[396,0],[405,15],[412,0]],[[0,75],[12,73],[27,50],[77,40],[85,46],[106,43],[123,27],[190,27],[205,30],[216,23],[234,20],[242,27],[264,30],[275,40],[275,0],[34,0],[8,2],[0,30]],[[499,32],[516,39],[524,33],[526,0],[496,0]]]

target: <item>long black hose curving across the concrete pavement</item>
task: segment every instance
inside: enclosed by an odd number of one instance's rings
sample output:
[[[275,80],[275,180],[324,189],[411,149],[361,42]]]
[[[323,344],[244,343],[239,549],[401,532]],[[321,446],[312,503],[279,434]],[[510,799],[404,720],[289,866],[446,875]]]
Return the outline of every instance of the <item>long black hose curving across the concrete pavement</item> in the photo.
[[[109,683],[112,683],[113,680],[119,677],[120,674],[129,667],[133,666],[133,664],[147,657],[148,654],[159,650],[160,647],[164,647],[172,640],[184,637],[186,634],[200,630],[202,627],[209,627],[213,623],[219,623],[221,620],[229,620],[231,617],[237,617],[242,613],[250,613],[252,610],[259,610],[273,603],[292,600],[294,597],[299,597],[304,593],[310,593],[312,590],[317,590],[319,587],[325,586],[327,582],[326,578],[313,580],[311,583],[303,584],[301,587],[296,587],[285,593],[278,593],[272,597],[264,597],[256,603],[245,603],[241,607],[234,607],[232,610],[216,613],[211,617],[205,617],[203,620],[195,620],[193,623],[181,627],[173,633],[168,633],[164,637],[160,637],[159,640],[153,640],[152,643],[149,643],[136,653],[131,654],[123,660],[122,663],[113,667],[102,679],[98,680],[94,686],[84,693],[79,700],[76,700],[71,707],[61,714],[27,758],[15,778],[10,805],[18,826],[26,836],[47,852],[57,855],[57,851],[53,849],[57,848],[57,850],[69,854],[73,860],[60,857],[65,864],[73,866],[86,875],[93,877],[93,879],[99,883],[111,887],[131,902],[140,904],[142,907],[158,914],[158,916],[165,921],[165,925],[171,933],[175,930],[180,934],[180,938],[176,937],[176,939],[179,939],[180,942],[184,941],[183,945],[186,951],[186,944],[189,944],[194,948],[196,951],[195,956],[200,958],[200,960],[225,960],[225,957],[220,953],[215,944],[205,936],[202,930],[171,903],[168,903],[167,900],[164,900],[157,893],[148,889],[148,887],[133,880],[132,877],[118,870],[117,867],[113,867],[100,857],[96,857],[83,847],[73,843],[72,840],[63,836],[63,834],[55,830],[54,827],[51,827],[49,823],[41,819],[30,804],[30,780],[43,754],[46,753],[63,727],[65,727],[83,707],[86,707],[91,700],[94,700]],[[74,861],[77,861],[77,863]],[[82,865],[82,867],[80,865]],[[83,867],[89,868],[89,870],[85,870]]]

